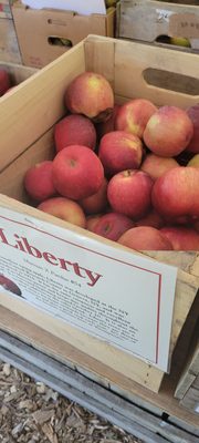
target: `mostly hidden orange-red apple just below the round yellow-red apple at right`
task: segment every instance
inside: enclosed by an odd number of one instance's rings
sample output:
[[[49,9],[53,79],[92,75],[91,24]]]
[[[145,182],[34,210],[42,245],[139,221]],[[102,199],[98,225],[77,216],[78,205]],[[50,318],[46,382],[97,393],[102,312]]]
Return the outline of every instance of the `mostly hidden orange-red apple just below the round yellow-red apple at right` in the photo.
[[[178,167],[178,162],[172,157],[160,157],[156,154],[147,154],[142,163],[140,169],[149,174],[156,181],[167,171]]]

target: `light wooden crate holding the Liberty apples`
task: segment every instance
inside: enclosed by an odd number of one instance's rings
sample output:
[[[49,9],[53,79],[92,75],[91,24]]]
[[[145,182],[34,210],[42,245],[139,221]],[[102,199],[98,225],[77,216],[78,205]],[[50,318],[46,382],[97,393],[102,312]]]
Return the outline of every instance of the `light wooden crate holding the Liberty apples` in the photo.
[[[149,48],[144,44],[117,41],[115,39],[88,37],[83,42],[70,50],[66,54],[42,69],[32,79],[23,82],[23,87],[15,89],[9,97],[2,99],[0,107],[1,122],[1,176],[0,176],[0,206],[12,208],[22,214],[33,216],[52,225],[64,227],[74,233],[80,233],[85,239],[93,238],[88,231],[72,227],[24,203],[25,194],[22,182],[27,168],[35,162],[52,156],[53,131],[52,127],[64,115],[63,93],[66,84],[85,70],[103,73],[114,87],[116,101],[123,103],[133,96],[143,96],[156,100],[157,104],[168,103],[186,107],[198,102],[198,96],[188,95],[186,92],[176,93],[169,90],[147,85],[143,72],[158,69],[159,64],[168,72],[177,75],[190,76],[192,84],[196,79],[198,59],[195,54],[175,53],[171,50]],[[125,81],[124,81],[125,79]],[[134,84],[132,84],[132,79]],[[32,105],[34,103],[34,105]],[[20,107],[19,107],[20,104]],[[10,127],[14,127],[14,133]],[[28,127],[29,131],[24,131]],[[18,138],[18,144],[15,144]],[[23,202],[23,203],[22,203]],[[95,237],[95,236],[94,236]],[[102,238],[102,243],[108,241]],[[113,246],[113,243],[111,243]],[[117,254],[123,248],[115,244]],[[137,253],[138,254],[138,253]],[[176,343],[186,323],[188,313],[199,287],[199,257],[197,253],[148,253],[149,257],[178,267],[176,298],[174,308],[170,354],[174,353]],[[101,372],[111,377],[116,372],[119,380],[133,381],[157,392],[160,388],[164,372],[137,358],[134,358],[111,344],[93,339],[65,322],[43,313],[33,306],[24,306],[21,300],[11,300],[8,295],[2,295],[0,303],[3,308],[14,311],[38,328],[43,328],[53,337],[62,337],[64,349],[67,347],[67,360],[91,372]],[[2,308],[2,309],[3,309]],[[193,316],[192,323],[196,321]],[[14,333],[14,322],[9,322],[10,330]],[[189,329],[186,331],[189,337]],[[189,343],[187,344],[189,346]]]

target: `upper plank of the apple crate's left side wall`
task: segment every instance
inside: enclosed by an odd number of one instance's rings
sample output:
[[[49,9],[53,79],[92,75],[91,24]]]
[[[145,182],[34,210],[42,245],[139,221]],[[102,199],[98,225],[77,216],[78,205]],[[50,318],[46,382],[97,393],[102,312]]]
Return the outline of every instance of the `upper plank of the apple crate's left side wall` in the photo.
[[[6,95],[1,97],[1,169],[65,114],[63,95],[66,85],[84,70],[84,51],[80,43],[60,56],[57,63],[54,61],[27,79],[22,85],[10,92],[9,100]],[[14,127],[14,131],[10,131],[10,127]]]

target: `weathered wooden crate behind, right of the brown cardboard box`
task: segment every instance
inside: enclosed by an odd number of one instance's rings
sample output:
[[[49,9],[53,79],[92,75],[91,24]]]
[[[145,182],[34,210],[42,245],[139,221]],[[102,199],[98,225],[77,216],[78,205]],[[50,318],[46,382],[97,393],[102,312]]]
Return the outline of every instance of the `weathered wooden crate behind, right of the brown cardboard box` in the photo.
[[[118,38],[156,43],[160,37],[187,38],[199,49],[198,1],[122,0],[117,8]]]

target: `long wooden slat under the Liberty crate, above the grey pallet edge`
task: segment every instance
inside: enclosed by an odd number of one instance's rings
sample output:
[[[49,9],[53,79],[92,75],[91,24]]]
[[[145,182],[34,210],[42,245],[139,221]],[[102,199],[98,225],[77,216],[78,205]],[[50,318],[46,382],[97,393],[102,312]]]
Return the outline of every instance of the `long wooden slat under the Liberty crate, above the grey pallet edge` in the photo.
[[[72,369],[75,369],[75,367],[77,367],[78,371],[82,369],[83,371],[81,372],[85,374],[86,378],[90,380],[96,379],[97,384],[103,384],[101,382],[102,380],[106,388],[111,387],[112,389],[113,387],[113,391],[124,398],[127,395],[128,399],[128,394],[132,393],[134,399],[139,399],[139,402],[144,408],[148,404],[147,408],[150,410],[150,405],[153,405],[151,412],[154,412],[155,408],[156,411],[159,410],[159,414],[166,412],[174,419],[176,418],[177,422],[180,420],[181,422],[187,423],[188,426],[192,426],[195,430],[198,429],[198,420],[195,415],[184,408],[180,408],[178,401],[174,399],[176,368],[179,364],[179,354],[177,354],[175,359],[174,375],[168,378],[167,383],[163,383],[163,388],[160,388],[159,393],[156,394],[126,377],[121,375],[118,372],[102,364],[97,360],[91,359],[90,356],[80,351],[77,353],[77,350],[63,340],[57,339],[51,333],[2,307],[0,308],[0,329],[7,331],[9,336],[17,337],[24,343],[30,344],[31,348],[40,350],[42,353],[52,357],[67,367],[70,365]],[[185,349],[186,339],[182,341],[182,348]],[[77,364],[75,364],[76,358]],[[115,387],[117,387],[117,391],[115,391]]]

